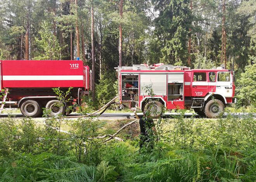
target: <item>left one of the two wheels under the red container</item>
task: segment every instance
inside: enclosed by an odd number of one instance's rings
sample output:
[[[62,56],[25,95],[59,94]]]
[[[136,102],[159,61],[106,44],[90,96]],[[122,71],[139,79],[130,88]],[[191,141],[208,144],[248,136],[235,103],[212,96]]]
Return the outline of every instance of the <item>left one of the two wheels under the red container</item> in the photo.
[[[21,104],[21,113],[26,117],[38,117],[42,108],[35,100],[26,100]]]

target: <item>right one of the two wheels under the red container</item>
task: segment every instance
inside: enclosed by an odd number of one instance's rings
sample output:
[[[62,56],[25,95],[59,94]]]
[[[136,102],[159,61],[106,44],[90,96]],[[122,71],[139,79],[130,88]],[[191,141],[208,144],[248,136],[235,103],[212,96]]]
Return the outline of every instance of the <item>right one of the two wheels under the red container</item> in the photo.
[[[47,102],[45,109],[49,109],[49,116],[58,116],[59,114],[65,114],[65,106],[60,100],[50,100]]]

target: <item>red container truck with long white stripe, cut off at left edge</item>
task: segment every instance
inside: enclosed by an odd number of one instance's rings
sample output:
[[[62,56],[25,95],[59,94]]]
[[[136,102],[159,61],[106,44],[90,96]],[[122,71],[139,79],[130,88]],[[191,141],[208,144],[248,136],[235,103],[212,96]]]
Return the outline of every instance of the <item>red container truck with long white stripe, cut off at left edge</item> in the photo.
[[[5,107],[20,108],[29,117],[42,116],[42,108],[50,109],[50,116],[68,114],[66,108],[75,102],[80,105],[81,95],[90,89],[89,67],[79,60],[1,60],[0,78],[0,89],[9,90]],[[73,87],[68,95],[73,99],[61,101],[52,89],[57,87],[64,93]],[[57,106],[58,102],[63,104]]]

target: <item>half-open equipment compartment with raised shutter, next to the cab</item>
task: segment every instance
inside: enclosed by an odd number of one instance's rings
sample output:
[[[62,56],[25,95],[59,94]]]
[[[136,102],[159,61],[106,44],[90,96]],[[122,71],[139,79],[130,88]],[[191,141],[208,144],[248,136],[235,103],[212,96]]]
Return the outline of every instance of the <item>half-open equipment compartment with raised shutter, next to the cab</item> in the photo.
[[[184,73],[169,73],[168,74],[168,101],[183,100],[183,77]]]

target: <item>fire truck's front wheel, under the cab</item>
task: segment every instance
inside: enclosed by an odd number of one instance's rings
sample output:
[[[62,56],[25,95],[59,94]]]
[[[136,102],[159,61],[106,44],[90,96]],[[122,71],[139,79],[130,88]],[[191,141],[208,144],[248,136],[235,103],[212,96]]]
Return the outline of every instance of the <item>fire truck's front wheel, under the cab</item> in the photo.
[[[207,117],[215,118],[220,116],[220,114],[224,111],[224,104],[218,99],[209,100],[206,103],[204,112]]]

